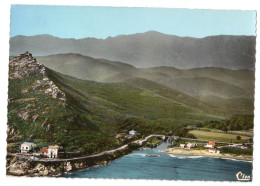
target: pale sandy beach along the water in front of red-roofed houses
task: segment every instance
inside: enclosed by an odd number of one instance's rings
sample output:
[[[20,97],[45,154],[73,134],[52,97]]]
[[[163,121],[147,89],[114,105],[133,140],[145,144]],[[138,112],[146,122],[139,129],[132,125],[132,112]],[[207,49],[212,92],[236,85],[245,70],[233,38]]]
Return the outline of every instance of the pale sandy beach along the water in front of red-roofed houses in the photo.
[[[222,158],[222,159],[235,159],[235,160],[244,160],[244,161],[252,161],[252,156],[248,155],[233,155],[233,154],[221,154],[221,153],[209,153],[207,150],[193,150],[193,149],[182,149],[182,148],[169,148],[165,151],[170,154],[182,154],[182,155],[190,155],[190,156],[206,156],[211,158]]]

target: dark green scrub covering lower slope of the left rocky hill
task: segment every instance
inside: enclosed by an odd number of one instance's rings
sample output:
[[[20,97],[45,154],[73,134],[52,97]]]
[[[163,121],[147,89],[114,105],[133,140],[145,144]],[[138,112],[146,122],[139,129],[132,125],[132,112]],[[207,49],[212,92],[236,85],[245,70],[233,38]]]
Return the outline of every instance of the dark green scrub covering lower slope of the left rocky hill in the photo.
[[[9,79],[8,125],[13,133],[8,136],[8,143],[33,141],[40,146],[55,143],[65,151],[79,150],[83,154],[120,145],[113,131],[96,125],[74,105],[64,106],[48,94],[22,93],[41,78],[39,75]]]

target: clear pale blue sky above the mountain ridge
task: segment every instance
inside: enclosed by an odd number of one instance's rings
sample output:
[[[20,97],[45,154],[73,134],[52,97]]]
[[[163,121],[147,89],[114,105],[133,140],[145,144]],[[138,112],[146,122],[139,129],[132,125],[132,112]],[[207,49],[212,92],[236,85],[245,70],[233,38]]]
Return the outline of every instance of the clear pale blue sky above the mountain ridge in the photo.
[[[255,24],[256,12],[249,10],[12,5],[10,37],[50,34],[105,39],[154,30],[202,38],[256,35]]]

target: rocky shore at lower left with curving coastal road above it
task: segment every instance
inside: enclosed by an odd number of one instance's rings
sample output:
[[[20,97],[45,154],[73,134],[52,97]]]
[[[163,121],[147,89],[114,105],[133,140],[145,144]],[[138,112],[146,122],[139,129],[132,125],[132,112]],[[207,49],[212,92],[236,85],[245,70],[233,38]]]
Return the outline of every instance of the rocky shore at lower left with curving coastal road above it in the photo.
[[[66,158],[66,159],[30,159],[16,153],[7,153],[6,174],[12,176],[48,176],[60,177],[70,172],[89,168],[96,165],[104,165],[124,155],[130,154],[133,150],[140,149],[144,146],[144,142],[152,137],[160,137],[163,135],[151,134],[145,139],[135,140],[128,144],[124,144],[116,149],[103,151],[97,154]],[[130,145],[131,144],[131,145]]]

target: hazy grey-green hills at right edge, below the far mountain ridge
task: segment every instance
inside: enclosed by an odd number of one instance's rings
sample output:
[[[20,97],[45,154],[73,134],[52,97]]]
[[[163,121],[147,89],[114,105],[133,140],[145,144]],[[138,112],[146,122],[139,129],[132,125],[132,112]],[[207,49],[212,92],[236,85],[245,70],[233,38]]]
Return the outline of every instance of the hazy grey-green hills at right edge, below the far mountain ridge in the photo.
[[[191,96],[250,99],[254,97],[254,72],[249,70],[224,68],[179,70],[172,67],[154,67],[144,69],[144,71],[168,75],[170,78],[165,78],[160,83]]]

